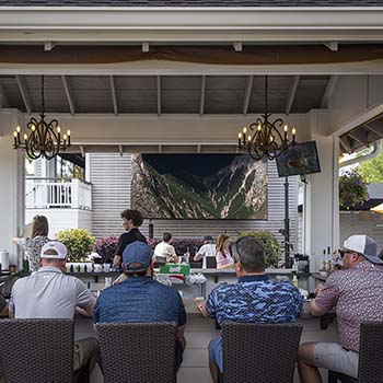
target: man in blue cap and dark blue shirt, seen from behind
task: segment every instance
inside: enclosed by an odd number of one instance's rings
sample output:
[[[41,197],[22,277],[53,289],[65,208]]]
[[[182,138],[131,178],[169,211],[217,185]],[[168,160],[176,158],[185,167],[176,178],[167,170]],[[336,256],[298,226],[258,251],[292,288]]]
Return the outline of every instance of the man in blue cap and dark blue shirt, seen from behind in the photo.
[[[186,313],[177,290],[152,279],[153,251],[134,242],[123,253],[123,282],[103,290],[94,309],[94,323],[176,322],[176,368],[185,349]]]

